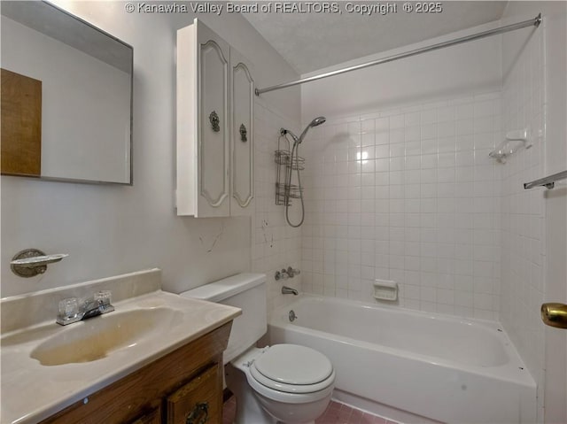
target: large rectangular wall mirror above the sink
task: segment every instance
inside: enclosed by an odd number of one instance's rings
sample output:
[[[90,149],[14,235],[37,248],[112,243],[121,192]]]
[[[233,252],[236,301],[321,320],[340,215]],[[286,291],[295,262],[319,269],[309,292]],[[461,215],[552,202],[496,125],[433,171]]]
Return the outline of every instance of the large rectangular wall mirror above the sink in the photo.
[[[132,184],[132,47],[47,2],[0,12],[2,173]]]

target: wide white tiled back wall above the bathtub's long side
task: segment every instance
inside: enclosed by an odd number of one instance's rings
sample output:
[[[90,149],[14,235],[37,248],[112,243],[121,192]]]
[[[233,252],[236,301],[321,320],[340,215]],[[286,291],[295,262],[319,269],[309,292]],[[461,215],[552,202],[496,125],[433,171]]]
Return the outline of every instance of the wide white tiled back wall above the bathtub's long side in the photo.
[[[303,289],[497,319],[501,93],[329,119],[301,145]]]

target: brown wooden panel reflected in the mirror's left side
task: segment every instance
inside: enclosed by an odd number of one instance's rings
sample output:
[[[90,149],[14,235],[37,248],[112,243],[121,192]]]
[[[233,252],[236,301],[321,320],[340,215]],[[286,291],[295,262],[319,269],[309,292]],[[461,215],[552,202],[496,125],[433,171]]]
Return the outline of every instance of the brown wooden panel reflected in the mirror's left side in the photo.
[[[42,173],[42,81],[2,69],[1,171]]]

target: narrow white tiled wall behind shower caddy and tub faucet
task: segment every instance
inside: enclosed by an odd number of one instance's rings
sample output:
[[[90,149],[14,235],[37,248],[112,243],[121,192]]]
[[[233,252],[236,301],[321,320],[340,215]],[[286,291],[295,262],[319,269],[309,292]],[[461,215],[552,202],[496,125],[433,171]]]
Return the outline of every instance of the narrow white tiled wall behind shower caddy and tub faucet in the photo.
[[[283,296],[282,285],[301,289],[302,275],[293,279],[276,281],[277,270],[301,266],[301,227],[287,225],[283,206],[275,202],[276,164],[279,129],[292,128],[297,132],[299,123],[286,117],[283,112],[268,107],[260,98],[254,104],[254,184],[255,213],[252,215],[252,271],[268,277],[268,313],[278,306],[290,302],[290,295]],[[297,220],[294,208],[293,217]]]

